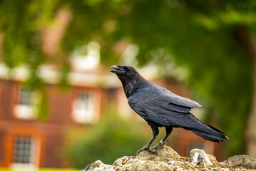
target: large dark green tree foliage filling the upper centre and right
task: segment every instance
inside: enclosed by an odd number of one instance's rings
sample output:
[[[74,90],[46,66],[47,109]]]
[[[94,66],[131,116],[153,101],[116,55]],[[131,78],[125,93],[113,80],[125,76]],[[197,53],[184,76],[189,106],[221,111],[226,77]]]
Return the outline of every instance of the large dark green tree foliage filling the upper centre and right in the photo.
[[[188,85],[210,99],[211,114],[230,137],[230,155],[240,154],[245,151],[252,63],[237,43],[236,31],[245,26],[255,33],[255,7],[254,1],[74,2],[74,19],[63,47],[72,47],[75,39],[71,38],[81,33],[84,40],[101,43],[102,53],[114,58],[102,61],[113,63],[118,56],[112,54],[113,46],[127,38],[138,45],[140,64],[155,58],[155,48],[164,49],[163,56],[188,68]],[[112,31],[106,30],[109,22],[113,23]],[[76,23],[84,25],[75,28]]]

